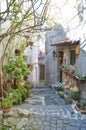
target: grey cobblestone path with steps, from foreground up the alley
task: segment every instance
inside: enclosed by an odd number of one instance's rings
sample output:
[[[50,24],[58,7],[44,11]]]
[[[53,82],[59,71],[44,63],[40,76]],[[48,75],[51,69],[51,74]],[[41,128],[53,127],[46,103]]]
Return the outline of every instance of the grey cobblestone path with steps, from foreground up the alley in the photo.
[[[16,107],[32,113],[25,130],[86,130],[86,115],[43,84],[34,86],[26,102]]]

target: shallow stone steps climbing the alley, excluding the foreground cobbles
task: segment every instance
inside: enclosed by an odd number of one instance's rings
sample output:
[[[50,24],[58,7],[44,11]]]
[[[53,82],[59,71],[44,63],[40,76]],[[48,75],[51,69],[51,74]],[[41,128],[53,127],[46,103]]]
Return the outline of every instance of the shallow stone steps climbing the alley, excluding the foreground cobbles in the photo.
[[[58,84],[61,85],[60,83]],[[60,118],[70,119],[86,118],[86,116],[81,115],[79,112],[74,112],[74,106],[66,105],[64,99],[53,91],[54,87],[56,87],[56,85],[52,88],[49,88],[46,85],[33,87],[30,97],[24,104],[17,107],[26,109],[30,113],[38,115],[54,115],[59,116]]]

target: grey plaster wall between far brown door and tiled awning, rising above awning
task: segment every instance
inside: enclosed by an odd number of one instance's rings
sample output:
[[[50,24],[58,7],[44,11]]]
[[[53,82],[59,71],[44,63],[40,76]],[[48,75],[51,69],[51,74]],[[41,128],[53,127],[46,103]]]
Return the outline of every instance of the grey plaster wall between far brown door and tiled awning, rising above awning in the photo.
[[[56,46],[51,44],[67,39],[63,28],[60,26],[57,31],[48,32],[45,40],[45,81],[49,83],[56,83],[58,76],[58,60],[56,54]]]

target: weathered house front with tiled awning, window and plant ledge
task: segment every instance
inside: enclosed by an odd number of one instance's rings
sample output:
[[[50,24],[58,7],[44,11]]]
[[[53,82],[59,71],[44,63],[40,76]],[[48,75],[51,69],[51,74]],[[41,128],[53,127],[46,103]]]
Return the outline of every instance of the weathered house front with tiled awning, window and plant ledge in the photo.
[[[57,80],[62,84],[67,81],[66,87],[69,89],[76,84],[80,90],[81,98],[86,99],[86,52],[80,48],[80,41],[65,40],[52,44],[52,46],[57,46],[59,68],[59,78]],[[83,62],[81,62],[81,59]],[[62,65],[64,65],[65,68],[61,68]]]

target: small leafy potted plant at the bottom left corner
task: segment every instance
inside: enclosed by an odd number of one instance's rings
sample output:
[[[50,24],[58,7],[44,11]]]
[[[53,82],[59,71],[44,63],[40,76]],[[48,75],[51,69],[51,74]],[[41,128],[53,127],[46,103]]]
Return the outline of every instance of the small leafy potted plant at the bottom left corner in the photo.
[[[9,112],[13,105],[13,100],[9,97],[2,99],[2,110],[4,113]]]

